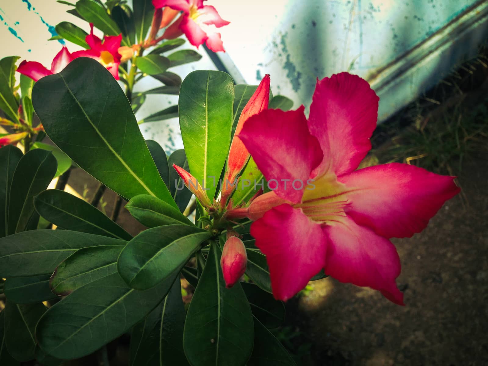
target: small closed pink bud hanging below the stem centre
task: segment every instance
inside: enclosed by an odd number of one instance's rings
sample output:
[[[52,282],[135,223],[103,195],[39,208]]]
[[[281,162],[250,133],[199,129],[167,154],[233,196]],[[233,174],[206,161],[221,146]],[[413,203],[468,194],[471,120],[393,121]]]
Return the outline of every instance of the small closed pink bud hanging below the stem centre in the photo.
[[[244,275],[247,264],[245,246],[237,236],[227,239],[222,250],[220,266],[224,274],[225,287],[230,288]]]

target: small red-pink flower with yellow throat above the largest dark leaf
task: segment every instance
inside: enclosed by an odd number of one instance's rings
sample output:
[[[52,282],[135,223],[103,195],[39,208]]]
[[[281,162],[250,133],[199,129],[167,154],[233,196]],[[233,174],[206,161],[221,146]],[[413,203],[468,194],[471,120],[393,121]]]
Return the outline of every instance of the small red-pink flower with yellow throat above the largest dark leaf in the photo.
[[[85,41],[90,46],[90,49],[73,52],[73,57],[90,57],[95,59],[105,66],[116,80],[119,80],[121,55],[118,49],[121,46],[122,34],[118,36],[105,36],[102,41],[93,34],[92,23],[90,23],[90,29],[90,34],[85,37]]]

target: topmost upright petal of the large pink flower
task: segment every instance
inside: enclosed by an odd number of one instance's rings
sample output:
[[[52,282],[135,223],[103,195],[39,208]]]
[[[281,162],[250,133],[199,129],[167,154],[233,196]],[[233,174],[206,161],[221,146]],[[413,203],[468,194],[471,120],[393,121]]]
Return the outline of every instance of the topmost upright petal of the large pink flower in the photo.
[[[308,127],[324,151],[314,171],[329,168],[340,176],[356,169],[371,149],[369,138],[378,119],[379,98],[367,81],[343,72],[317,80]]]

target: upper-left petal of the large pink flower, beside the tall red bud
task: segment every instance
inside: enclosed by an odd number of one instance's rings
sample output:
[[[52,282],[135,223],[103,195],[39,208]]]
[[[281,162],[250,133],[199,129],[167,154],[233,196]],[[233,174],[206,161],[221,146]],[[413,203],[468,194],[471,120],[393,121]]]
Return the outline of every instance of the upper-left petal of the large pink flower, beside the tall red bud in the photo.
[[[308,132],[304,106],[288,112],[264,110],[244,123],[238,137],[263,172],[270,188],[277,185],[274,192],[279,197],[292,203],[300,202],[310,172],[323,156],[319,142]],[[297,181],[295,188],[294,181]]]

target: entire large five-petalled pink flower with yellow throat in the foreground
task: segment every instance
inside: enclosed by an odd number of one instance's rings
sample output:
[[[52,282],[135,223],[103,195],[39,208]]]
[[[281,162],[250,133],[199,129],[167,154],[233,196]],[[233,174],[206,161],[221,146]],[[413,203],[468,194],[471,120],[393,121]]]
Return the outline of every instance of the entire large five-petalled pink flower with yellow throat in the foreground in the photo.
[[[378,101],[365,80],[341,73],[317,81],[308,121],[302,106],[245,122],[239,138],[269,186],[278,186],[246,212],[256,220],[251,235],[277,299],[289,299],[324,269],[403,305],[395,282],[400,259],[389,238],[422,231],[460,189],[452,177],[407,164],[355,170],[371,148]]]

